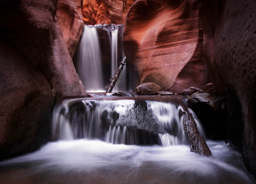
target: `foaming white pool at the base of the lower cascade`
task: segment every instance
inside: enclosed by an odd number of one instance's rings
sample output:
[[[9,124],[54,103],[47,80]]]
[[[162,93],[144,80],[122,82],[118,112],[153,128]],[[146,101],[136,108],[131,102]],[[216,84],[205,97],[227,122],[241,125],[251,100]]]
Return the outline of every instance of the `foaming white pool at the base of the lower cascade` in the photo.
[[[213,156],[188,145],[134,146],[80,139],[50,142],[0,162],[1,183],[253,184],[241,155],[208,141]]]

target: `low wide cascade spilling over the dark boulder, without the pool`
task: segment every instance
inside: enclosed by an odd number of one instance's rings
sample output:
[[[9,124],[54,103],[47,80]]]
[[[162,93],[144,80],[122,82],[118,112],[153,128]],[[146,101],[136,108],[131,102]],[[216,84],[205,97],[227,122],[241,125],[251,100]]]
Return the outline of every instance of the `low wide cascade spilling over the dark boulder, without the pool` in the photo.
[[[97,138],[113,144],[187,144],[182,101],[66,99],[52,116],[54,140]],[[192,110],[190,110],[193,112]],[[200,127],[200,122],[196,122]],[[200,129],[203,133],[203,129]]]

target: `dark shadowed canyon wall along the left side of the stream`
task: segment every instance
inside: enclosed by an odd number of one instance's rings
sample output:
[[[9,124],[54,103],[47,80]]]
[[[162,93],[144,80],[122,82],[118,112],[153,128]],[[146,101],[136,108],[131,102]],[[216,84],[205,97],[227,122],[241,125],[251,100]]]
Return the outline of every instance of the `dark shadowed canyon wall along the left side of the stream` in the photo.
[[[49,141],[53,105],[87,96],[56,18],[57,1],[1,1],[0,160]]]

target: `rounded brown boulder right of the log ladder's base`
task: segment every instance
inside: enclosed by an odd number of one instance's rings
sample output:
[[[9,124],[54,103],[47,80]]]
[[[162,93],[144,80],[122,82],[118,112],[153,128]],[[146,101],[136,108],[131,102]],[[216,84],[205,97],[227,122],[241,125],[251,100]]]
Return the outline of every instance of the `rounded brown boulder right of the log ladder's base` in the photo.
[[[139,95],[157,95],[161,87],[153,82],[140,84],[136,89]]]

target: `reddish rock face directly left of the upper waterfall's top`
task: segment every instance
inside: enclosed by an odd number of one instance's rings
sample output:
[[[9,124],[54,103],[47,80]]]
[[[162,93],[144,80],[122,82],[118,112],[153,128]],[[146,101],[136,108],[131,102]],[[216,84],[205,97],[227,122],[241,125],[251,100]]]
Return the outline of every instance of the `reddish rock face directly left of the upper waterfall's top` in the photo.
[[[82,3],[83,0],[58,0],[57,3],[58,24],[71,57],[79,47],[79,40],[84,29]]]

